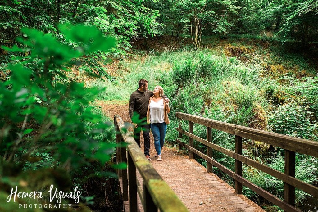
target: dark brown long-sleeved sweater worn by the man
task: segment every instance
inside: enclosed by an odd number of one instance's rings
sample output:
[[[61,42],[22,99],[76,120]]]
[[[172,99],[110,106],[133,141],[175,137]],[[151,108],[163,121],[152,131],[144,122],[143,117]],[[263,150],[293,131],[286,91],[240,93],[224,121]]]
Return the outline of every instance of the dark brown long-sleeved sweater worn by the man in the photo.
[[[145,92],[141,92],[138,89],[130,95],[129,99],[129,115],[130,119],[134,115],[134,111],[140,115],[140,118],[145,118],[148,110],[149,98],[154,95],[153,91],[147,89]],[[163,95],[165,98],[166,95]]]

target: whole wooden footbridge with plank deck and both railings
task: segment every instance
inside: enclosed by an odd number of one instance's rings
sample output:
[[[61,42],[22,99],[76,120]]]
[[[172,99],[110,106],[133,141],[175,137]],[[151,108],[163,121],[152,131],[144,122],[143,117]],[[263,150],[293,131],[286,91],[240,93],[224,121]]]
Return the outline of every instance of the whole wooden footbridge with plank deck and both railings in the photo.
[[[263,211],[242,195],[242,185],[250,188],[284,211],[299,211],[294,207],[295,187],[315,197],[318,188],[296,179],[295,152],[318,157],[318,143],[291,136],[270,133],[249,127],[202,118],[186,113],[176,113],[176,117],[189,122],[189,130],[176,130],[179,138],[189,137],[189,144],[177,139],[179,149],[185,147],[189,155],[176,150],[165,153],[163,161],[147,161],[133,136],[124,127],[119,115],[115,115],[117,162],[127,162],[128,168],[118,170],[120,192],[125,211]],[[193,123],[206,126],[207,138],[193,133]],[[235,152],[212,143],[211,130],[217,129],[235,135]],[[264,164],[242,155],[242,138],[252,139],[285,149],[285,172],[281,173]],[[193,140],[207,146],[203,154],[193,147]],[[235,159],[235,172],[212,159],[212,149]],[[197,154],[207,161],[207,168],[193,159]],[[257,168],[284,181],[284,201],[242,177],[242,163]],[[212,173],[212,167],[228,174],[235,180],[235,189]],[[137,172],[136,172],[137,170]]]

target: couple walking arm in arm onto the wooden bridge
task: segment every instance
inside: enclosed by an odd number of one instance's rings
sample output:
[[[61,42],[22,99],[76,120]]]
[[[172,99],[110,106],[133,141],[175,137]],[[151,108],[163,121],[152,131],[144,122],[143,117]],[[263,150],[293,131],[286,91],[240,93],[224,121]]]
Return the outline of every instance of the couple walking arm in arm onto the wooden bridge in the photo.
[[[134,112],[139,114],[139,119],[147,118],[147,123],[141,123],[139,126],[134,124],[135,140],[140,147],[140,133],[142,131],[144,139],[144,154],[147,160],[150,159],[150,137],[149,131],[155,139],[155,148],[157,160],[162,161],[161,149],[166,135],[167,124],[170,123],[168,113],[170,112],[169,99],[163,94],[161,86],[156,86],[153,91],[148,90],[148,81],[141,79],[138,82],[139,88],[130,95],[129,115],[132,119]],[[133,122],[133,120],[132,120]]]

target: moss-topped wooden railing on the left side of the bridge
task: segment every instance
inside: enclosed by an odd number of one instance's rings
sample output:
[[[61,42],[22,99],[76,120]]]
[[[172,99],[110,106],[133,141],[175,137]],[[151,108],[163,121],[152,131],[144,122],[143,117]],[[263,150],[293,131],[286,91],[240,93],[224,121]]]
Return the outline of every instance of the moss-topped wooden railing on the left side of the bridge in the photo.
[[[123,201],[129,200],[129,211],[137,212],[137,192],[144,211],[188,211],[168,184],[147,161],[133,136],[127,131],[119,115],[114,116],[116,132],[116,161],[126,162],[127,169],[118,169],[118,177],[122,178]],[[143,188],[136,177],[136,168],[143,179]],[[120,189],[121,190],[121,189]]]

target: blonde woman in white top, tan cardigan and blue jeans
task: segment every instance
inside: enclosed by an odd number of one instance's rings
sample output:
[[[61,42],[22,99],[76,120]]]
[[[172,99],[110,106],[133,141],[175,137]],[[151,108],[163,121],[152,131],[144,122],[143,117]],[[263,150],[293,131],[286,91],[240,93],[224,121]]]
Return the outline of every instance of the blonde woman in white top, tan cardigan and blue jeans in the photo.
[[[154,95],[150,97],[147,111],[147,122],[150,123],[151,132],[155,139],[155,148],[157,152],[157,161],[162,161],[161,149],[166,136],[167,124],[170,123],[168,113],[170,112],[169,102],[162,98],[163,89],[156,86]]]

